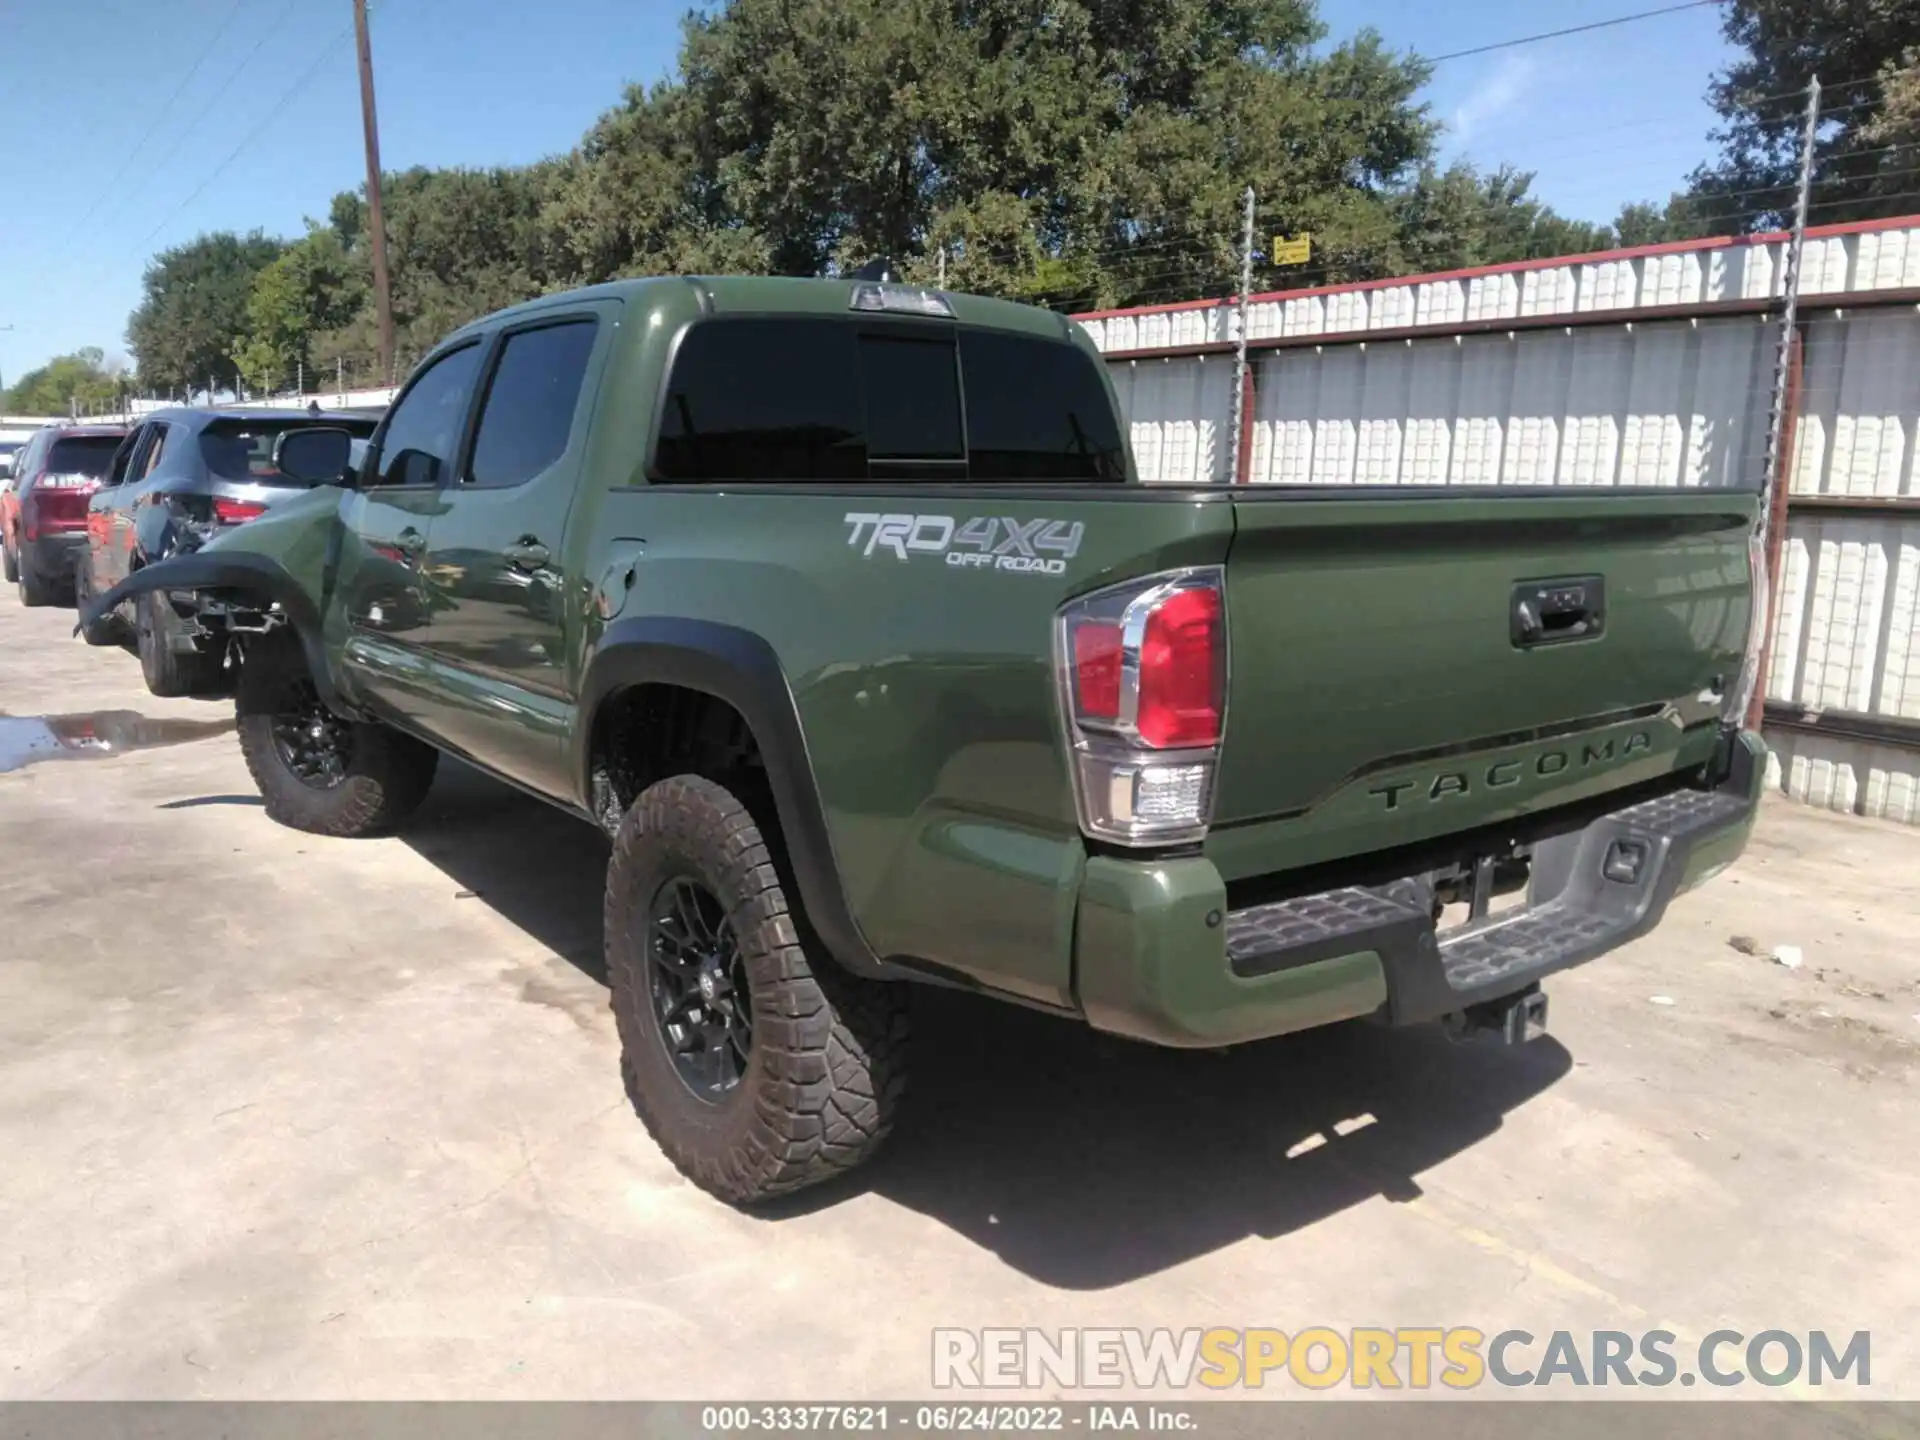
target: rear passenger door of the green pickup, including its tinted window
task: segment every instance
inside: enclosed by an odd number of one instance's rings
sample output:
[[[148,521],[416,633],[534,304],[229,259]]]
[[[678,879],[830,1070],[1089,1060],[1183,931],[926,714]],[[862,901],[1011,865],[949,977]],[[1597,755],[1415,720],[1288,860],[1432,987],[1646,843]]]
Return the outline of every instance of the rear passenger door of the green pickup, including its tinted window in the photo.
[[[572,791],[566,518],[616,315],[618,301],[593,301],[499,334],[472,445],[422,564],[430,728],[547,795]]]

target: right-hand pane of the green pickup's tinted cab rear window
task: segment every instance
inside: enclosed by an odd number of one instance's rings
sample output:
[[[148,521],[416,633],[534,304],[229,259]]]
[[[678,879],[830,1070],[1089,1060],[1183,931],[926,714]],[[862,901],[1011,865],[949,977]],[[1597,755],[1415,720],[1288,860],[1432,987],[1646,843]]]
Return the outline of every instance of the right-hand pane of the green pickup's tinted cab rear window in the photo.
[[[1114,401],[1081,349],[964,330],[968,470],[973,480],[1125,480]]]

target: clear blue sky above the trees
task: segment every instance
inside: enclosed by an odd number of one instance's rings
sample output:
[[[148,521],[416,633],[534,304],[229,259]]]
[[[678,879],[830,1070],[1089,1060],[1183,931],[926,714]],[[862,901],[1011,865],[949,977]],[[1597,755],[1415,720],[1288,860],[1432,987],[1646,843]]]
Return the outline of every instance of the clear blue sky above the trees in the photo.
[[[1442,54],[1642,8],[1323,0],[1323,17],[1334,36],[1373,25],[1394,46]],[[570,148],[626,81],[672,71],[684,10],[374,0],[384,165],[516,163]],[[298,234],[355,188],[365,161],[349,27],[349,0],[0,0],[0,154],[13,196],[0,219],[0,326],[13,326],[0,328],[0,376],[79,346],[125,353],[156,250],[211,228]],[[1555,207],[1611,219],[1626,200],[1665,198],[1707,156],[1701,94],[1724,58],[1707,8],[1448,61],[1427,98],[1450,125],[1450,156],[1534,169]]]

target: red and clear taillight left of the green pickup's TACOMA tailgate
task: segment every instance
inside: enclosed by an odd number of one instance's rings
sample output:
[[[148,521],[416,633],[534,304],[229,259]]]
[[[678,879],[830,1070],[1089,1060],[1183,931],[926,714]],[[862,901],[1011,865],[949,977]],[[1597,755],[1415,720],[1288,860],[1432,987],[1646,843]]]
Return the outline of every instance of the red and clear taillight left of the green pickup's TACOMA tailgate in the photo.
[[[1131,580],[1060,611],[1081,828],[1121,845],[1206,835],[1227,720],[1219,568]]]

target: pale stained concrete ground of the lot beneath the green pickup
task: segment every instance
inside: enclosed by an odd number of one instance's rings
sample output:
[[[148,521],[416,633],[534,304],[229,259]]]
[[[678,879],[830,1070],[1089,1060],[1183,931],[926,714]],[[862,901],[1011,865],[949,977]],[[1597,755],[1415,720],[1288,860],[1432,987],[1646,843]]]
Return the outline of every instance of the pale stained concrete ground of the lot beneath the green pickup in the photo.
[[[221,714],[71,620],[0,597],[0,708]],[[891,1150],[772,1217],[628,1108],[603,864],[470,772],[369,843],[225,735],[0,774],[0,1398],[912,1398],[991,1325],[1866,1329],[1920,1398],[1920,831],[1770,803],[1519,1052],[929,993]]]

